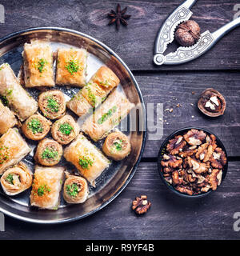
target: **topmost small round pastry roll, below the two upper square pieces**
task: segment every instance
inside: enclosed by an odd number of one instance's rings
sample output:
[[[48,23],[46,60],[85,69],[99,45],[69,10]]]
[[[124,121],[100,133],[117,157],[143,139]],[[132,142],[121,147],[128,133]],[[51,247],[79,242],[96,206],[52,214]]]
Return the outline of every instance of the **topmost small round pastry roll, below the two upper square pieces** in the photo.
[[[38,106],[46,118],[56,119],[64,115],[66,100],[61,90],[48,90],[39,95]]]

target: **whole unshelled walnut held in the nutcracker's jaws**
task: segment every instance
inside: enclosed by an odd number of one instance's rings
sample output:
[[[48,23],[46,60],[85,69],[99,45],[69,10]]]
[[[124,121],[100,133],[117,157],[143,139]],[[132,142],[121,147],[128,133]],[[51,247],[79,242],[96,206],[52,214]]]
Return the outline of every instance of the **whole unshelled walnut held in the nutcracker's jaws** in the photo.
[[[175,32],[175,39],[181,46],[193,46],[199,38],[200,27],[191,20],[180,24]]]

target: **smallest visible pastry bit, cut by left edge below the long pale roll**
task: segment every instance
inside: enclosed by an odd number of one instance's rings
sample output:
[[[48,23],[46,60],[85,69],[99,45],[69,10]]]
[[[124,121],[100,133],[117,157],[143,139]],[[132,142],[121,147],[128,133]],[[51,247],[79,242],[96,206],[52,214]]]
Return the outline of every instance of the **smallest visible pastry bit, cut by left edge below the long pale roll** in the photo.
[[[0,134],[6,133],[9,128],[14,127],[17,123],[18,121],[14,114],[0,100]]]

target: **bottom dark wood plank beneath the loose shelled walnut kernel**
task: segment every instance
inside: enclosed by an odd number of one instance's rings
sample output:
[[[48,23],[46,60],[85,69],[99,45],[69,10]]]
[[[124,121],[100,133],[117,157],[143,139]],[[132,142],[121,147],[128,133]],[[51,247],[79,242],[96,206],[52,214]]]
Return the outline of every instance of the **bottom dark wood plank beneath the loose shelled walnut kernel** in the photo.
[[[6,218],[1,239],[239,239],[240,162],[230,162],[226,179],[206,198],[186,200],[167,190],[156,163],[141,163],[126,190],[100,212],[78,222],[39,226]],[[150,211],[138,217],[132,200],[146,194]]]

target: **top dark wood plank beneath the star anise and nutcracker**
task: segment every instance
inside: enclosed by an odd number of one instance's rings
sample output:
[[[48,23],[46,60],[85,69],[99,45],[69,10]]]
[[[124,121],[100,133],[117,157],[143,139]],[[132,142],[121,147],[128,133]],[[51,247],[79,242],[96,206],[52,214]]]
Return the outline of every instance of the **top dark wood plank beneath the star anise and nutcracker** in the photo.
[[[132,17],[129,26],[119,31],[107,26],[106,14],[116,2],[96,0],[18,1],[4,0],[6,23],[0,26],[0,36],[36,26],[61,26],[90,34],[110,46],[132,70],[221,70],[240,68],[240,29],[222,38],[214,49],[198,60],[181,66],[156,67],[152,63],[154,40],[158,29],[171,12],[182,3],[170,1],[118,1],[128,6]],[[193,18],[202,31],[213,32],[234,17],[234,0],[202,0],[193,7]]]

